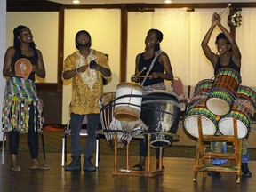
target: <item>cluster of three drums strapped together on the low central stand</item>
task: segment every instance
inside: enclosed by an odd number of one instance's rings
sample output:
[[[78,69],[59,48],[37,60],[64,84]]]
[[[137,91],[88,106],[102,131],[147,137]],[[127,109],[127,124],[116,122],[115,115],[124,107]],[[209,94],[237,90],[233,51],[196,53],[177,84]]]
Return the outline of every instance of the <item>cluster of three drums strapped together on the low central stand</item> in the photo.
[[[117,148],[123,148],[139,134],[151,135],[151,147],[169,146],[176,136],[179,119],[180,103],[173,92],[142,93],[140,84],[126,82],[101,98],[102,130],[112,146],[116,135]]]

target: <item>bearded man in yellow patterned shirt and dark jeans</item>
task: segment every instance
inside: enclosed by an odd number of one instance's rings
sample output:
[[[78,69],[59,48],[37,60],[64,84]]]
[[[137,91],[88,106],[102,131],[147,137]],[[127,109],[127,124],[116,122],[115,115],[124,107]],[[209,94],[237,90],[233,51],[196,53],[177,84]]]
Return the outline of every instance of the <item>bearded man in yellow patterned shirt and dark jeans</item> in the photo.
[[[92,156],[96,142],[96,132],[100,121],[99,100],[103,95],[102,76],[111,76],[108,59],[102,53],[91,49],[90,34],[81,30],[76,33],[76,49],[64,63],[63,78],[72,78],[72,100],[70,105],[71,153],[72,161],[66,171],[81,169],[80,130],[84,116],[87,116],[87,139],[84,148],[84,171],[96,171]]]

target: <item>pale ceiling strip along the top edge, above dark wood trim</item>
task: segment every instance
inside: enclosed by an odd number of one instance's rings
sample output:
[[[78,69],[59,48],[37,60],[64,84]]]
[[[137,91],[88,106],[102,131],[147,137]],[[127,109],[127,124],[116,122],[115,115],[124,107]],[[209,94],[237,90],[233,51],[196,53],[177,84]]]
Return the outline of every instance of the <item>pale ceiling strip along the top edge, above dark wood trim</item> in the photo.
[[[59,4],[73,4],[72,0],[48,0]],[[255,3],[256,0],[172,0],[172,4]],[[164,4],[164,0],[80,0],[81,4]]]

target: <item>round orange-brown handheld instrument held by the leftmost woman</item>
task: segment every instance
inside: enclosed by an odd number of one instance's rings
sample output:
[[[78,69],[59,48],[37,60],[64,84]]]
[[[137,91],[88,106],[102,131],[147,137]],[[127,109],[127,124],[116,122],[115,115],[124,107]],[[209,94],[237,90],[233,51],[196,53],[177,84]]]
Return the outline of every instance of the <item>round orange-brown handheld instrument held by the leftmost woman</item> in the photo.
[[[28,76],[32,71],[32,64],[29,60],[21,58],[15,62],[14,70],[16,76],[21,76],[24,79],[28,79]]]

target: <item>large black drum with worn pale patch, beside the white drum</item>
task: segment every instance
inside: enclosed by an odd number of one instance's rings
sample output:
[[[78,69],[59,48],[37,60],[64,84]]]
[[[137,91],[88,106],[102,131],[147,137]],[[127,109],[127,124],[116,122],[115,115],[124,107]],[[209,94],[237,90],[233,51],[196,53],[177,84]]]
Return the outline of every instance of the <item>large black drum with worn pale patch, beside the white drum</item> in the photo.
[[[151,133],[150,145],[155,148],[172,143],[180,118],[180,103],[172,92],[146,92],[141,103],[141,120]]]

